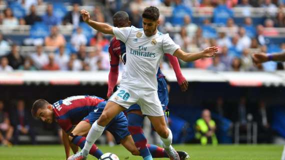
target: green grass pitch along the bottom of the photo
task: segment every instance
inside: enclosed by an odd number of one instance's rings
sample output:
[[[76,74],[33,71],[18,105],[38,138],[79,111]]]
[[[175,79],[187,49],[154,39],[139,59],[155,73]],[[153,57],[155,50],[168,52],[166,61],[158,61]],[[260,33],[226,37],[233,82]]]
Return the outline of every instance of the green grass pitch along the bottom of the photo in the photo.
[[[281,157],[282,145],[174,145],[176,150],[187,151],[192,160],[279,160]],[[139,156],[132,156],[122,146],[108,147],[100,145],[103,152],[113,152],[124,159],[142,159]],[[70,150],[71,151],[71,150]],[[19,145],[12,147],[0,146],[0,160],[57,160],[65,159],[64,148],[61,145]],[[88,156],[88,159],[96,159]],[[159,158],[167,159],[167,158]]]

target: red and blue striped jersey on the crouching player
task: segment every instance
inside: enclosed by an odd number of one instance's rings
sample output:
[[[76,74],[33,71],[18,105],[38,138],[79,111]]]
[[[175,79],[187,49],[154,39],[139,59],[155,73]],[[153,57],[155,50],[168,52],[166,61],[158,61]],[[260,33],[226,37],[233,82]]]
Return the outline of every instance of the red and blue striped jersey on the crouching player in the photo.
[[[70,96],[58,100],[52,104],[55,120],[65,132],[69,132],[73,125],[78,124],[102,101],[103,98],[90,95]]]

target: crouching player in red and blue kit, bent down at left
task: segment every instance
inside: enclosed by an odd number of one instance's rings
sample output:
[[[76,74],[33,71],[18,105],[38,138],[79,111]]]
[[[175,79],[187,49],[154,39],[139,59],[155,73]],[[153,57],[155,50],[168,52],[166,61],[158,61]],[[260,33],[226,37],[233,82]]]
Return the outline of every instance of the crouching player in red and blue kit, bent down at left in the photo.
[[[31,113],[44,122],[51,123],[55,120],[59,124],[62,128],[62,141],[67,158],[69,146],[74,153],[78,151],[77,146],[83,148],[84,136],[88,133],[92,123],[102,113],[105,104],[104,99],[89,95],[71,96],[53,104],[44,99],[38,99],[33,103]],[[127,130],[127,120],[122,112],[111,120],[106,129],[112,133],[117,143],[121,143],[133,155],[139,155],[139,151]],[[69,142],[71,142],[70,145]],[[156,145],[148,145],[148,147],[153,156],[168,157],[163,148]],[[95,144],[92,145],[89,153],[96,158],[103,154]],[[182,156],[184,152],[179,152],[179,154]]]

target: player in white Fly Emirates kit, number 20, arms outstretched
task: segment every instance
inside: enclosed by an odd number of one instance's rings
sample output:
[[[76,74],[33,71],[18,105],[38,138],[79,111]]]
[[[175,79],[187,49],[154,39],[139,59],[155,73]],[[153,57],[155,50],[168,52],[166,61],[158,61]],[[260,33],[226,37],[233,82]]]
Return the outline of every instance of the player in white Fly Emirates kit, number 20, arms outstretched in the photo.
[[[109,98],[99,119],[93,123],[86,137],[84,148],[68,159],[85,159],[90,147],[102,134],[108,122],[120,111],[137,103],[142,114],[147,115],[159,134],[163,148],[170,159],[179,160],[177,152],[171,146],[172,133],[166,126],[164,113],[157,95],[156,72],[158,66],[164,53],[172,54],[184,61],[193,61],[202,57],[214,56],[218,48],[212,46],[197,53],[185,53],[168,34],[162,34],[157,30],[159,10],[154,6],[146,7],[143,11],[143,28],[134,26],[117,28],[90,20],[89,12],[86,10],[81,10],[80,13],[83,20],[94,29],[106,34],[113,34],[116,39],[125,43],[127,61],[119,88]],[[148,160],[152,157],[147,156],[144,159]]]

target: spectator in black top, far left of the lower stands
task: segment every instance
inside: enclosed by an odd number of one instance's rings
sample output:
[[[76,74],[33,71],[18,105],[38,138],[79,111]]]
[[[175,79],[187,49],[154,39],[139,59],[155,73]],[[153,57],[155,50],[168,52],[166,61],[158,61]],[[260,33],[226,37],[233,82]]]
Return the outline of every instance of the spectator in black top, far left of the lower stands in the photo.
[[[11,52],[7,55],[9,65],[13,69],[17,69],[20,65],[24,63],[24,58],[19,53],[18,46],[16,44],[12,44]]]

